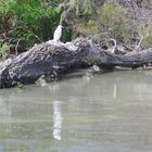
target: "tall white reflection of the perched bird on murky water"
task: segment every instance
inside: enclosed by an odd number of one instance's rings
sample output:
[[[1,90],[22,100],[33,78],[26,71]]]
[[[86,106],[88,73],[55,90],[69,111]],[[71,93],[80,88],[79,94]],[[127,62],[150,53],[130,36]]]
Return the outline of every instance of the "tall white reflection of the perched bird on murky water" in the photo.
[[[61,113],[61,103],[60,101],[53,102],[53,138],[61,140],[62,131],[62,113]]]

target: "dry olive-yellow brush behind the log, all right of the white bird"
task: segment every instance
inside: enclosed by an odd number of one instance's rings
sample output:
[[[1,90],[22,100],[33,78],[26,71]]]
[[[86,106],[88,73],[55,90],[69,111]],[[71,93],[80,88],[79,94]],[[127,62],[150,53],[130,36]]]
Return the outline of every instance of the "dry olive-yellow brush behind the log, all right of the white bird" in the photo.
[[[151,47],[151,22],[147,22],[148,18],[142,21],[144,14],[140,18],[139,12],[131,11],[130,8],[125,7],[125,2],[121,4],[116,0],[101,0],[100,2],[98,0],[67,0],[59,7],[61,23],[65,22],[73,27],[72,38],[79,36],[92,37],[106,33],[107,37],[131,45],[138,42],[138,39],[143,36],[142,42]],[[137,27],[142,26],[142,24],[147,24],[147,27],[142,28],[141,31]],[[136,39],[137,36],[139,38]]]

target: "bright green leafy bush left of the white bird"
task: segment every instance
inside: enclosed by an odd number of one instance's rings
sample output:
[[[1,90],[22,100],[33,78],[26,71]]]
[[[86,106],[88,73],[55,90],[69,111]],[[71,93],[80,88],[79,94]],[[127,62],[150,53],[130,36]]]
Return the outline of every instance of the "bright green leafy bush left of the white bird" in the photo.
[[[1,0],[0,21],[8,36],[25,38],[31,46],[52,38],[59,14],[51,3],[39,0]],[[9,25],[5,28],[4,25]]]

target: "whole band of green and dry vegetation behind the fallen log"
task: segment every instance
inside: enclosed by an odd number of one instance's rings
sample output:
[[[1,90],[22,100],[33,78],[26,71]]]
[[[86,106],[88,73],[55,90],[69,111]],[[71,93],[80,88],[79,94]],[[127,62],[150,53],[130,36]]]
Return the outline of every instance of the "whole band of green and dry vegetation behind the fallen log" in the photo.
[[[0,42],[4,41],[0,55],[5,58],[18,39],[25,39],[28,48],[52,39],[59,23],[66,26],[62,41],[106,33],[131,43],[136,33],[151,47],[152,24],[138,22],[135,11],[116,0],[0,0]]]

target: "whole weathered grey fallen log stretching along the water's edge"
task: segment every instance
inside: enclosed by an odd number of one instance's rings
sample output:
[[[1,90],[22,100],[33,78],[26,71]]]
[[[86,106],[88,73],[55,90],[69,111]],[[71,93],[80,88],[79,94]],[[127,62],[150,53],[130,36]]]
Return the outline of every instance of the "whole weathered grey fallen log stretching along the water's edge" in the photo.
[[[39,77],[56,78],[75,68],[98,65],[105,69],[115,66],[139,67],[152,63],[152,50],[115,54],[81,38],[62,43],[48,41],[29,51],[0,63],[0,88],[10,88],[17,83],[31,84]]]

